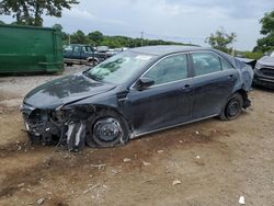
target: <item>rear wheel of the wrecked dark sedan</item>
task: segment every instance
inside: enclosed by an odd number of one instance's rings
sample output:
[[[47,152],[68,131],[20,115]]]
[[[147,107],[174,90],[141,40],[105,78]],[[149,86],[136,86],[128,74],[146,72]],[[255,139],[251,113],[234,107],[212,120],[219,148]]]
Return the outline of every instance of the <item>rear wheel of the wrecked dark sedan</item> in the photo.
[[[235,121],[242,111],[243,100],[240,93],[233,93],[224,106],[219,118],[221,121]]]

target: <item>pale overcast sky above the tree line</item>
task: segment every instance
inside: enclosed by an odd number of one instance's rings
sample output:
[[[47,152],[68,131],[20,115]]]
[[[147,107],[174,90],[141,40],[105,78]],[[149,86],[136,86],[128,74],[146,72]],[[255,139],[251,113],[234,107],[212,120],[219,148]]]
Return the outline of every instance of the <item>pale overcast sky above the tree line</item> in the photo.
[[[273,0],[80,0],[61,19],[46,16],[44,25],[59,23],[70,33],[99,30],[133,37],[142,31],[145,38],[202,46],[206,36],[222,26],[237,33],[237,49],[252,49],[260,37],[259,20],[272,9]]]

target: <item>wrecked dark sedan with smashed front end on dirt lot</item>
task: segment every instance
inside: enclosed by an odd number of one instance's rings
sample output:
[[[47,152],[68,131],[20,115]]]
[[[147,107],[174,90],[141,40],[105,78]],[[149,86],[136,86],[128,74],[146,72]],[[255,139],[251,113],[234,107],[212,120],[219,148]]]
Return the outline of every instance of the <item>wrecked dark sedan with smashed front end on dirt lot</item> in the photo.
[[[129,139],[250,106],[253,71],[215,49],[149,46],[31,91],[22,114],[32,141],[69,150]]]

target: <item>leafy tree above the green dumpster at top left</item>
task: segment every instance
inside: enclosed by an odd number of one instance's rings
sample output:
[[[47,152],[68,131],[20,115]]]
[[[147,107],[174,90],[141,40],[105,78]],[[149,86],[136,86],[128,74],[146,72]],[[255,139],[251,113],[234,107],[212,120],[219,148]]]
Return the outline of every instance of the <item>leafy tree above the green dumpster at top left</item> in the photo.
[[[42,14],[60,18],[62,9],[77,3],[77,0],[2,0],[0,14],[12,15],[20,25],[42,26]]]

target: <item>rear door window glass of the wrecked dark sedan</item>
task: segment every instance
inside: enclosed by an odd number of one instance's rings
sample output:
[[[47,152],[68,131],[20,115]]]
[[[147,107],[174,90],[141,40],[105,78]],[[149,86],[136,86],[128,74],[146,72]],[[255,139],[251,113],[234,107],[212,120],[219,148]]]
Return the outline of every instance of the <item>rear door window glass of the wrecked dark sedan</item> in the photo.
[[[193,53],[195,76],[221,71],[220,59],[212,53]]]

